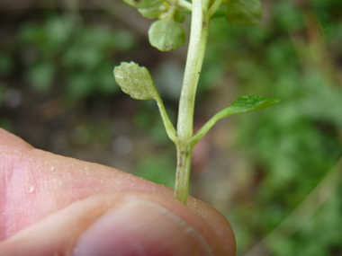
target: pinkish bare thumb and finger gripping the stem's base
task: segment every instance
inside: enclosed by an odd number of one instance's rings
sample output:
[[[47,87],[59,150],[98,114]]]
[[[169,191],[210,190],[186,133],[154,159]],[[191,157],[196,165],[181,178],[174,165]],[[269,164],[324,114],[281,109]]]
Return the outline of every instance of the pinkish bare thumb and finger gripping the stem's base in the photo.
[[[226,218],[173,193],[0,128],[1,255],[235,255]]]

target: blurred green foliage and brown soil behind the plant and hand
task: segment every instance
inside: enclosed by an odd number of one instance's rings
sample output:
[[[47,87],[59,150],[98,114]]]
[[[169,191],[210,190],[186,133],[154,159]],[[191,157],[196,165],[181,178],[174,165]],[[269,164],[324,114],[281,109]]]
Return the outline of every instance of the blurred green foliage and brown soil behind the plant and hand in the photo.
[[[238,255],[342,255],[342,1],[262,2],[257,26],[211,22],[194,127],[242,94],[282,102],[212,128],[193,151],[191,195],[227,216]],[[155,102],[112,76],[121,61],[147,66],[175,122],[186,46],[153,49],[150,23],[116,0],[1,0],[0,127],[173,187]]]

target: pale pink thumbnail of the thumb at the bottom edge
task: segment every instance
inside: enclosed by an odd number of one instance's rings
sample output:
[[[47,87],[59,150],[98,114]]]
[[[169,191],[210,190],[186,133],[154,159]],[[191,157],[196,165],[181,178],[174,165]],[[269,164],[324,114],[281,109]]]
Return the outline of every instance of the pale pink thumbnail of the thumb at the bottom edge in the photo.
[[[76,242],[75,256],[214,255],[192,225],[155,202],[135,199],[114,207]]]

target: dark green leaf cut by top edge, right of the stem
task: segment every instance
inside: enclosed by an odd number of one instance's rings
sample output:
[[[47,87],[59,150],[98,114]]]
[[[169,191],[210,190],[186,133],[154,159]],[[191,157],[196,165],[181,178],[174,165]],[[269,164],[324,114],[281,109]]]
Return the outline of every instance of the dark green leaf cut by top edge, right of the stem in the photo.
[[[226,18],[233,25],[249,26],[261,19],[263,5],[260,0],[228,0],[223,4],[227,6]]]

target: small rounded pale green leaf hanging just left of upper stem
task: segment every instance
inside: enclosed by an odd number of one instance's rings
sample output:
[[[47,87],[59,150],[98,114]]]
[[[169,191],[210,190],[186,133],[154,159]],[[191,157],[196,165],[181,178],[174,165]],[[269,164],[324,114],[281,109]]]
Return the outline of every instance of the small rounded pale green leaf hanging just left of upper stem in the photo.
[[[148,30],[148,39],[158,50],[178,49],[184,45],[185,31],[177,22],[166,18],[153,22]]]

